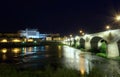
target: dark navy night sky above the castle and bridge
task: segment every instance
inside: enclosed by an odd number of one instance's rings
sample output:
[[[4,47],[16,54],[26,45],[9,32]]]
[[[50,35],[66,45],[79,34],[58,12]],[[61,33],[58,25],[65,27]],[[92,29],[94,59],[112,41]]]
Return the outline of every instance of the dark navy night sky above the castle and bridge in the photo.
[[[113,23],[116,13],[120,0],[3,0],[0,32],[35,28],[41,33],[94,33]]]

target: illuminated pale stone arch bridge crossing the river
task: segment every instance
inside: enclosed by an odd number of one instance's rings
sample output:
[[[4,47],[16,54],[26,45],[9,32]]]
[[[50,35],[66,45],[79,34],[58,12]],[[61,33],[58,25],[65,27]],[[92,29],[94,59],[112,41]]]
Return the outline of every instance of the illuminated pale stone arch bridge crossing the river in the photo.
[[[107,44],[107,56],[117,57],[120,51],[120,29],[109,30],[65,40],[68,45],[76,44],[85,49],[99,48],[103,41]]]

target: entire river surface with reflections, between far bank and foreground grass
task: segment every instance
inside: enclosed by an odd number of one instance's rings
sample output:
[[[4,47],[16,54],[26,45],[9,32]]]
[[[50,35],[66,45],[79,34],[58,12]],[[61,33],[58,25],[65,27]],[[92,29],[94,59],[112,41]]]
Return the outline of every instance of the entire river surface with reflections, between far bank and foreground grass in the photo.
[[[44,69],[67,67],[78,70],[83,77],[120,77],[120,62],[104,59],[68,46],[35,46],[0,49],[0,63],[16,64],[19,68]]]

